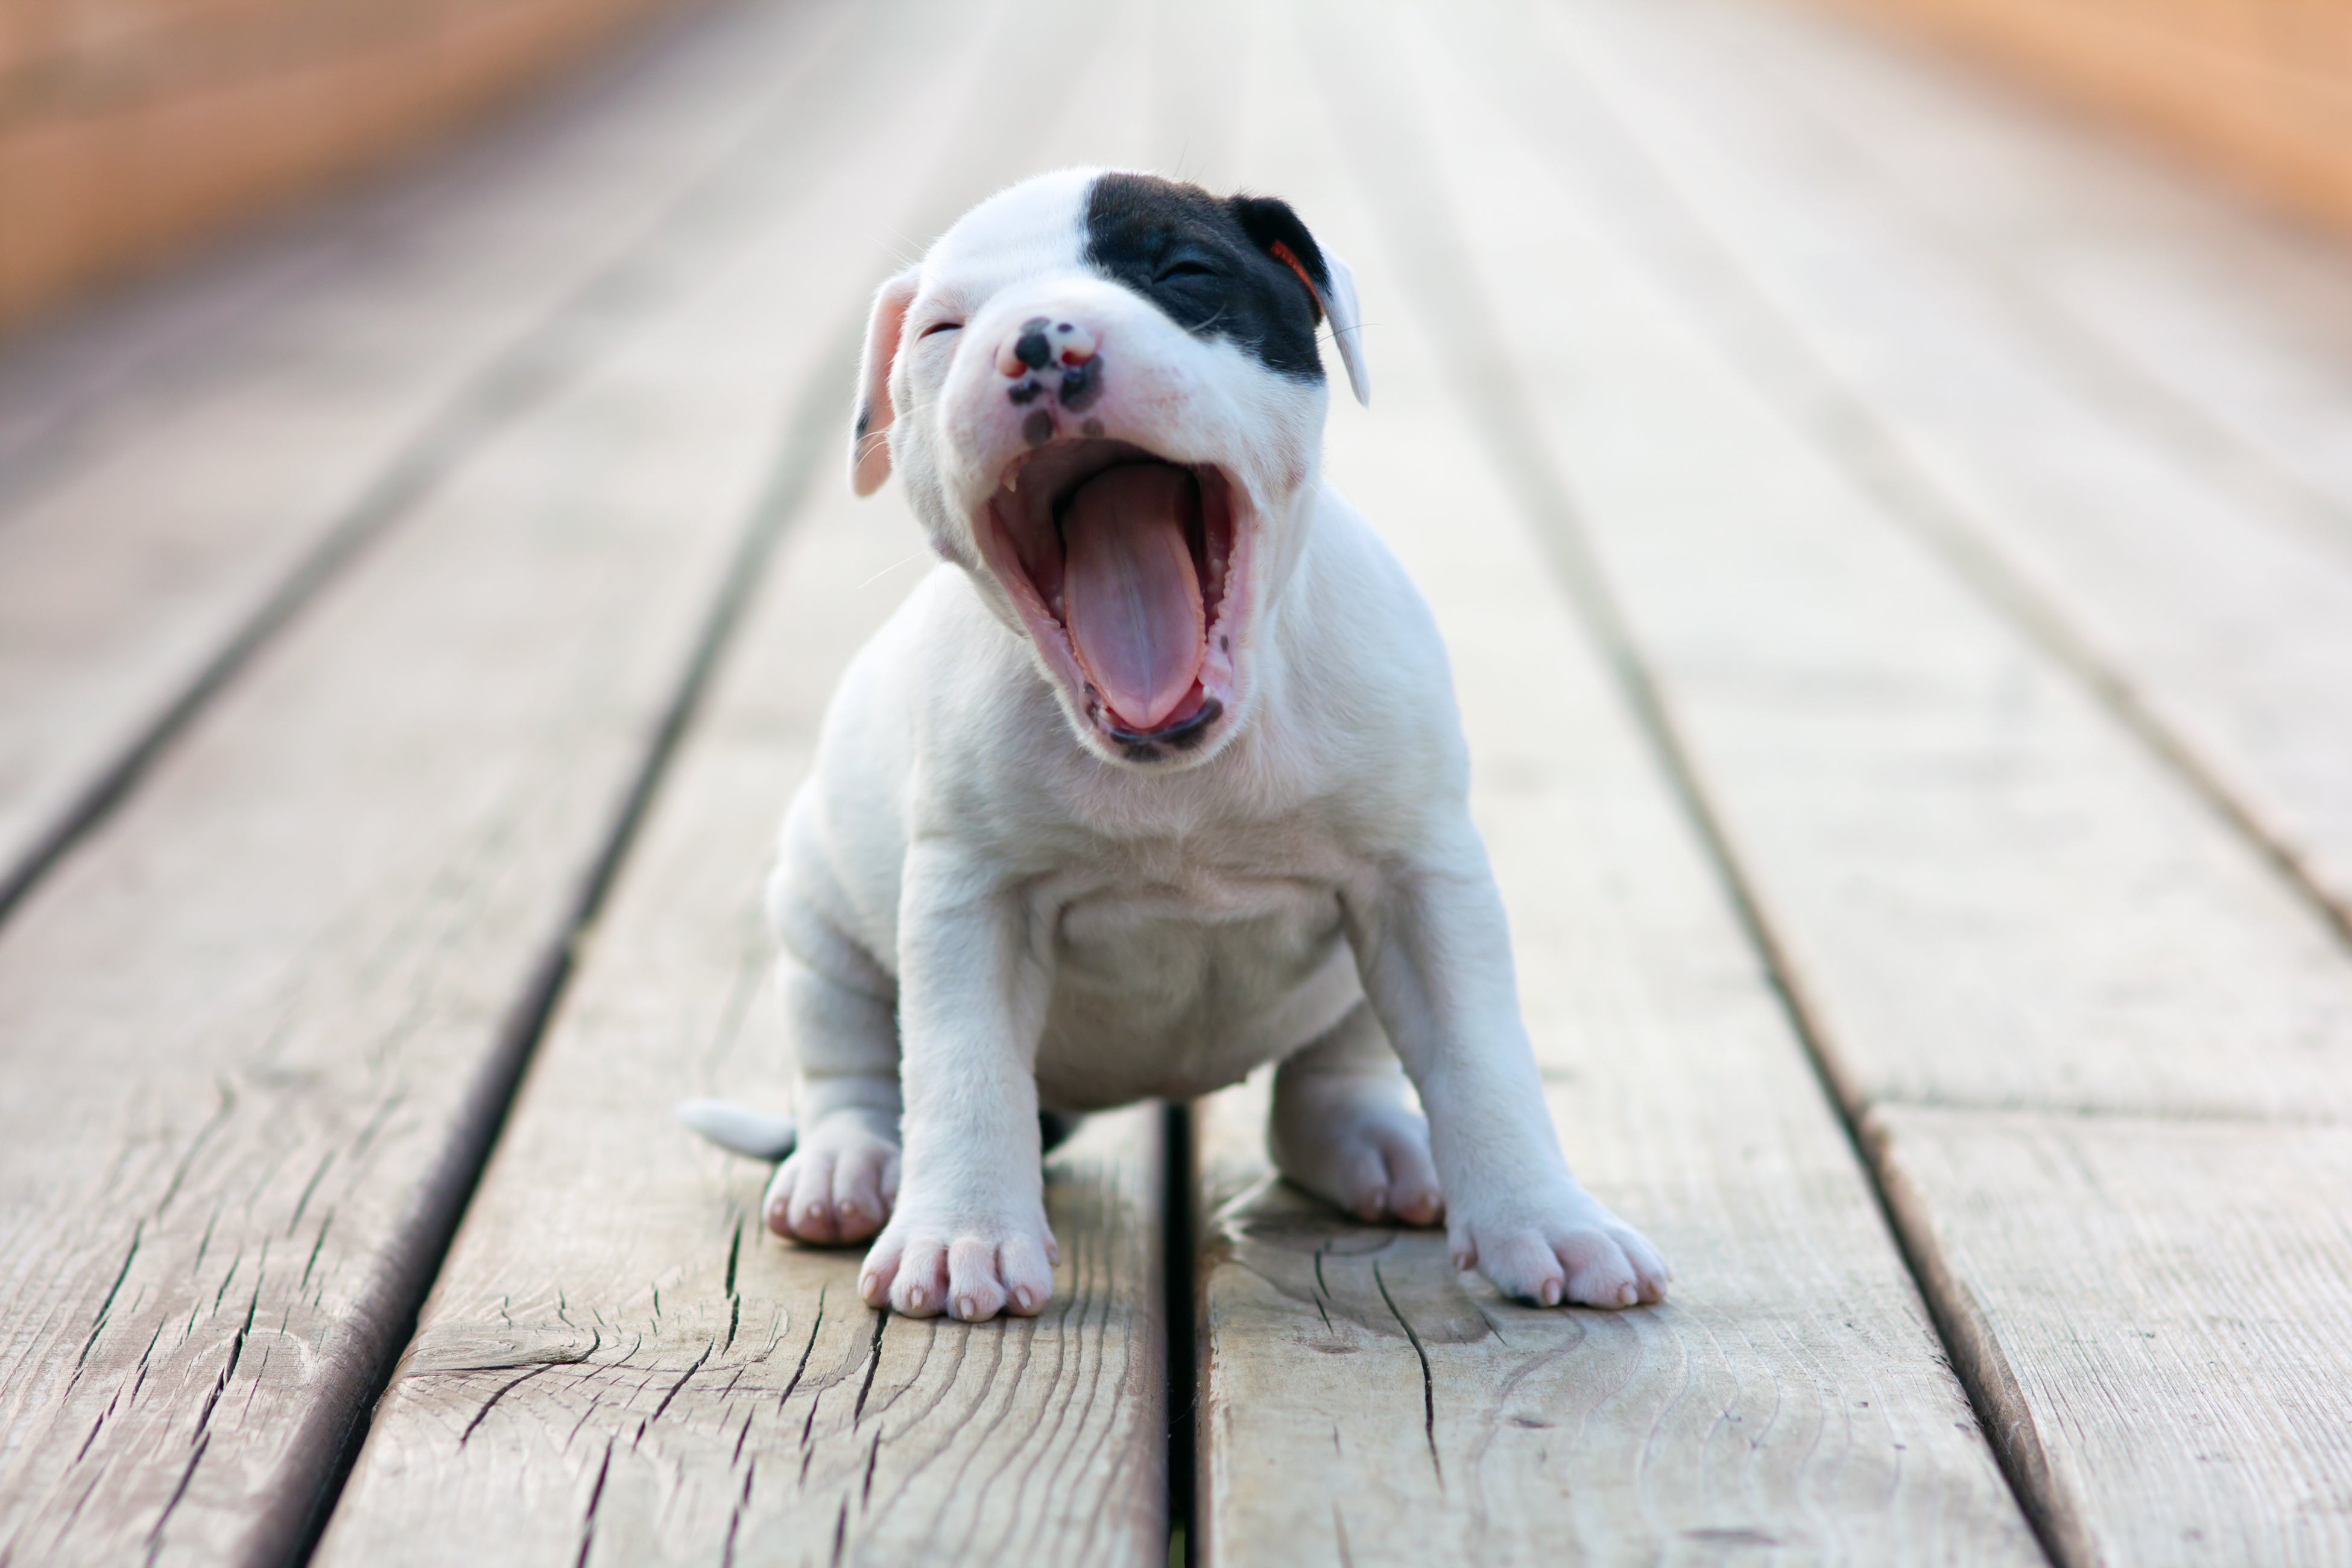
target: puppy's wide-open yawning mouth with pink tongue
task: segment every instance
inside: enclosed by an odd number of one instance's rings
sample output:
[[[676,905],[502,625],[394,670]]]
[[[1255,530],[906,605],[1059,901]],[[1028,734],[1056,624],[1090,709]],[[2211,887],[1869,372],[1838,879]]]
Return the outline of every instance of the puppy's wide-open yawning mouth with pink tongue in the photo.
[[[1249,548],[1235,496],[1214,465],[1094,437],[1023,454],[988,501],[990,569],[1129,755],[1197,743],[1230,696]]]

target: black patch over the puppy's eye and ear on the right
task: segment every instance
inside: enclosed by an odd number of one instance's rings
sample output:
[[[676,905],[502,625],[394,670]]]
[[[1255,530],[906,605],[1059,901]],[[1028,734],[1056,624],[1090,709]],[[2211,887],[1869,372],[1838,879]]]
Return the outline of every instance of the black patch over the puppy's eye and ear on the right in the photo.
[[[1289,205],[1270,195],[1216,197],[1152,174],[1103,174],[1087,197],[1087,263],[1160,306],[1197,339],[1225,339],[1268,369],[1322,381],[1315,327],[1322,310],[1287,263],[1284,244],[1331,284],[1322,249]]]

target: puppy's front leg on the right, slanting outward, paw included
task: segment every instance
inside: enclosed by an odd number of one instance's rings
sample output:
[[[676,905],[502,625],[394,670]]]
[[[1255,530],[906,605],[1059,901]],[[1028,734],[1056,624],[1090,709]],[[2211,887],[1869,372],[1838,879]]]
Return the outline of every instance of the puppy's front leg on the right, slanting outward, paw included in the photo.
[[[1545,1307],[1661,1300],[1658,1248],[1559,1154],[1486,849],[1468,818],[1442,837],[1350,896],[1348,922],[1364,992],[1430,1114],[1454,1267]]]

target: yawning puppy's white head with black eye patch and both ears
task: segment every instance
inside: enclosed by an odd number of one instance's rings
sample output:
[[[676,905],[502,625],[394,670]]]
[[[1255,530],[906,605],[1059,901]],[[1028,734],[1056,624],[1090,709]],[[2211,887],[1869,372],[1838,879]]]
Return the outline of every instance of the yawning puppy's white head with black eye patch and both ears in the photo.
[[[1204,759],[1312,510],[1324,322],[1367,400],[1355,282],[1287,205],[1040,174],[882,284],[851,484],[898,470],[1089,750]]]

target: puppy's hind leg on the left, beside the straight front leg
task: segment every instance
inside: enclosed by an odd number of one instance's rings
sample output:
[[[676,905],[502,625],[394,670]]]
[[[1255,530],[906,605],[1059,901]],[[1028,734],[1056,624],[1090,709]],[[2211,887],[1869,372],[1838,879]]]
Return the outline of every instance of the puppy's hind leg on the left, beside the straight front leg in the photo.
[[[783,912],[779,924],[800,1143],[767,1185],[767,1227],[795,1241],[863,1241],[898,1201],[898,987],[818,914]]]

